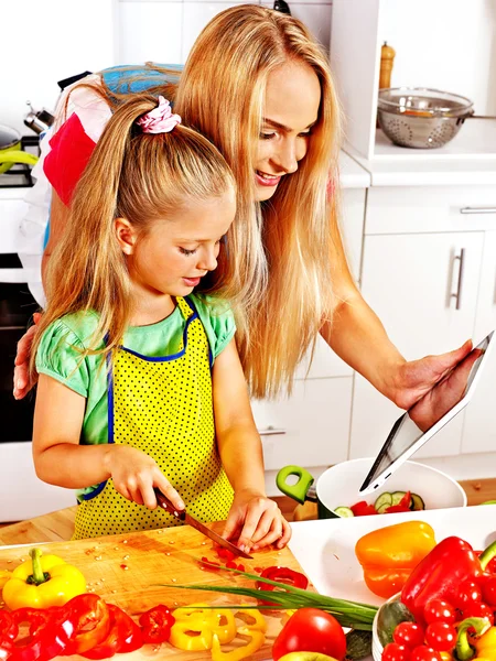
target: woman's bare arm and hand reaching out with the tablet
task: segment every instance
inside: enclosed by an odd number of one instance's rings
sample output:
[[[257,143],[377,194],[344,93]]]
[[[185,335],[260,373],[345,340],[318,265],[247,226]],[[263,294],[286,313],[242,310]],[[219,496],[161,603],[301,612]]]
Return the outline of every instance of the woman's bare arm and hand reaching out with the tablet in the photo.
[[[408,362],[356,288],[337,229],[333,245],[331,277],[337,303],[332,324],[324,323],[321,335],[379,392],[398,407],[409,409],[470,353],[472,343],[441,356]]]

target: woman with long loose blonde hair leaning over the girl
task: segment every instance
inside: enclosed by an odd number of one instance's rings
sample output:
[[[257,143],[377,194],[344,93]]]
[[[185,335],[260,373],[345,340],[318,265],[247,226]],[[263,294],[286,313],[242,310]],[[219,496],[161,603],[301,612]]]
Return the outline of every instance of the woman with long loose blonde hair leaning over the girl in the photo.
[[[101,95],[109,107],[121,97]],[[353,282],[337,228],[339,109],[326,56],[302,23],[257,6],[215,17],[181,74],[174,109],[217,145],[237,182],[244,223],[227,248],[238,254],[238,348],[254,395],[291,389],[317,333],[403,409],[468,354],[470,342],[407,362]],[[45,262],[65,217],[55,186]],[[30,387],[30,339],[19,347],[17,398]]]

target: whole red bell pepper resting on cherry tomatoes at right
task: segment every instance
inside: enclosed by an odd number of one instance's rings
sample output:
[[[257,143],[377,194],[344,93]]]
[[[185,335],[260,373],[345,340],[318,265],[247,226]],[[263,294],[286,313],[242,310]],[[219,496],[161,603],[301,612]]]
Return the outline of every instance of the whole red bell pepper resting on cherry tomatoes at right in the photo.
[[[496,556],[493,542],[477,557],[468,542],[457,537],[446,538],[417,565],[401,592],[401,602],[423,622],[423,609],[431,599],[457,603],[457,590],[465,582],[483,582],[485,568]]]

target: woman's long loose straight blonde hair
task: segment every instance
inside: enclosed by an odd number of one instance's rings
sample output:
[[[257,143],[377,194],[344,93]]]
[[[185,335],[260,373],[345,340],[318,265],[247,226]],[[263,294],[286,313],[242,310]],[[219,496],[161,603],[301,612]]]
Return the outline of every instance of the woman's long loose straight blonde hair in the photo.
[[[254,204],[267,80],[287,63],[315,72],[319,119],[298,172],[281,180],[269,202]],[[236,178],[242,221],[230,246],[245,284],[237,343],[251,391],[291,389],[296,365],[332,319],[331,262],[341,253],[334,194],[341,112],[327,56],[296,19],[254,4],[227,9],[196,40],[174,110],[218,147]]]

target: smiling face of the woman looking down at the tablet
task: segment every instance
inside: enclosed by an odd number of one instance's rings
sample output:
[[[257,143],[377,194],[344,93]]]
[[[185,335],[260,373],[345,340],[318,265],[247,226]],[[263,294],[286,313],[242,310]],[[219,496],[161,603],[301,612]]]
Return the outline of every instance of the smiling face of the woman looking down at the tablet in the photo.
[[[281,177],[298,170],[320,104],[321,85],[309,65],[288,62],[270,74],[255,173],[258,202],[272,197]]]

